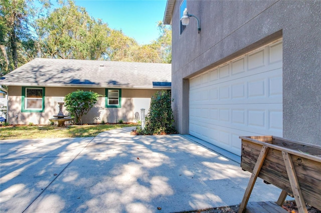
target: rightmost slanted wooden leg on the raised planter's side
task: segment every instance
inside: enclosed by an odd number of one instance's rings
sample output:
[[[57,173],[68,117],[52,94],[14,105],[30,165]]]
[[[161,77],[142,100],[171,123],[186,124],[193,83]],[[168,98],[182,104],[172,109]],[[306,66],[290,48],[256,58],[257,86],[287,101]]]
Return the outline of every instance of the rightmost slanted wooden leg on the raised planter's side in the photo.
[[[297,209],[298,209],[299,213],[307,213],[307,209],[306,209],[305,202],[304,202],[304,199],[303,199],[303,196],[301,193],[299,181],[297,180],[297,176],[296,176],[295,169],[293,166],[291,154],[289,154],[285,151],[282,151],[282,156],[283,156],[284,164],[286,167],[287,176],[290,180],[291,189],[292,189],[292,192],[294,195]]]

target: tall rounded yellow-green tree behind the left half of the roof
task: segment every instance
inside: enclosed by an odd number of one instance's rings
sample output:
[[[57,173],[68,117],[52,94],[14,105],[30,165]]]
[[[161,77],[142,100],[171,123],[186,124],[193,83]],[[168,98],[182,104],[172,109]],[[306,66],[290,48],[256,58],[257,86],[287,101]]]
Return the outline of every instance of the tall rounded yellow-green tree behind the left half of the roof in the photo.
[[[73,0],[36,20],[41,56],[69,59],[105,59],[110,28],[91,18]]]

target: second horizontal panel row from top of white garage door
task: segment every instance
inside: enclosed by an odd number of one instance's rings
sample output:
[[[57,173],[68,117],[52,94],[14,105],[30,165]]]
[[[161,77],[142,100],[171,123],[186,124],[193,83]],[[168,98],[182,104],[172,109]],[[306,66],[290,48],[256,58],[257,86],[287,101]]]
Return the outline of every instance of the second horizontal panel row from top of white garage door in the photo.
[[[191,89],[190,104],[281,103],[282,69],[258,76]]]

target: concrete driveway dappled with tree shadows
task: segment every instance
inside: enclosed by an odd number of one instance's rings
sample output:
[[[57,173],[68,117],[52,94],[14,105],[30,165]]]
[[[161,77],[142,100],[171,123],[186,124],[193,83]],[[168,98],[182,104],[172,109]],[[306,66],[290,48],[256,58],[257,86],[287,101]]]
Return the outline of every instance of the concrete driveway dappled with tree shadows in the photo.
[[[0,211],[178,212],[241,202],[250,173],[239,157],[192,136],[131,129],[2,140]],[[258,179],[250,201],[279,193]]]

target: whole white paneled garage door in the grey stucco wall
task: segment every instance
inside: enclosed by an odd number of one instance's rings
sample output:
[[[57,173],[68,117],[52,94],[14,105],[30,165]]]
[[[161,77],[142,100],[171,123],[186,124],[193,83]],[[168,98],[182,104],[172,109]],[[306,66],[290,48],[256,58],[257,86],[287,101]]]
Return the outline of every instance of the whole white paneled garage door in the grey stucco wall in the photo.
[[[190,134],[241,155],[239,136],[282,136],[282,40],[190,79]]]

